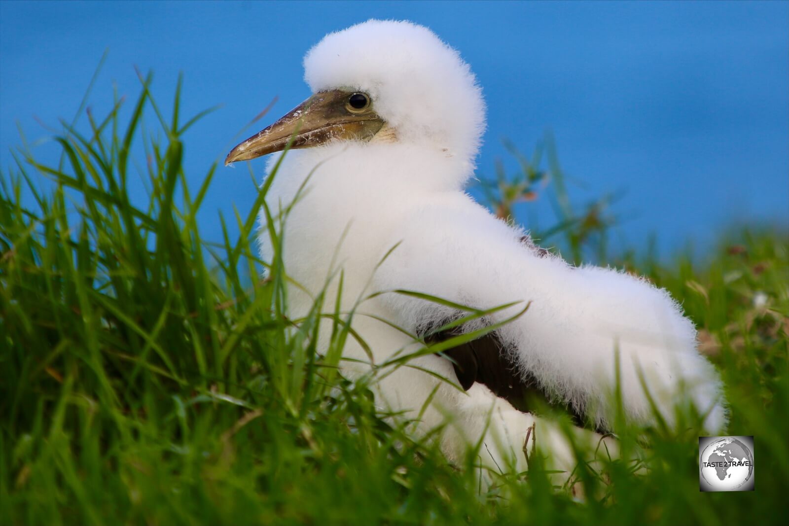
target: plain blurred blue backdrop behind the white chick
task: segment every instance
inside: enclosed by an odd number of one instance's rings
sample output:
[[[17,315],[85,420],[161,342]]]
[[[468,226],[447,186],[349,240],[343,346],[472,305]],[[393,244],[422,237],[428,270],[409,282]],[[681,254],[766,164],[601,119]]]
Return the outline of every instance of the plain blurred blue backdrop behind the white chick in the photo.
[[[52,135],[36,118],[57,127],[74,117],[108,47],[96,115],[114,85],[139,93],[133,65],[154,70],[168,113],[179,72],[185,114],[222,104],[185,136],[196,188],[237,140],[308,96],[309,47],[371,17],[427,25],[477,73],[488,102],[479,177],[498,158],[517,170],[503,138],[530,153],[552,129],[572,200],[625,192],[619,246],[655,233],[664,254],[701,250],[734,222],[789,223],[787,2],[0,2],[0,166],[13,162],[17,123],[32,142]],[[275,96],[271,114],[237,136]],[[42,142],[37,155],[54,155]],[[230,223],[234,206],[245,215],[252,190],[245,168],[220,168],[204,237],[220,239],[217,210]],[[147,202],[141,182],[134,192]],[[548,226],[551,207],[533,206]]]

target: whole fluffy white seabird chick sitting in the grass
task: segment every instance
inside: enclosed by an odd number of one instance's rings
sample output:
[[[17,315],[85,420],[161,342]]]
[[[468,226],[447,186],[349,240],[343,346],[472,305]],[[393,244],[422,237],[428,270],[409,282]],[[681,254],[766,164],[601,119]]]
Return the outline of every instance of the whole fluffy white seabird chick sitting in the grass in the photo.
[[[486,106],[457,50],[422,25],[369,20],[325,35],[304,69],[312,95],[226,165],[273,154],[261,256],[279,251],[292,319],[318,297],[353,313],[344,374],[370,378],[411,357],[372,383],[376,405],[412,419],[416,435],[445,426],[451,460],[481,441],[481,464],[499,470],[525,470],[535,437],[557,464],[571,461],[534,397],[589,424],[579,432],[590,441],[618,411],[671,425],[676,405],[692,405],[706,431],[725,427],[720,375],[666,290],[571,265],[466,192]]]

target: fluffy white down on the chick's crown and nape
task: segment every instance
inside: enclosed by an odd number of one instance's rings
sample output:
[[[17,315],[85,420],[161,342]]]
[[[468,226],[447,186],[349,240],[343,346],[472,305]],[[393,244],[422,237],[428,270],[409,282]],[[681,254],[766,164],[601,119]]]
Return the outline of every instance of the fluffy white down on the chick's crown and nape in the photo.
[[[368,21],[326,35],[304,59],[313,92],[365,91],[376,113],[404,143],[431,144],[466,163],[452,173],[463,185],[473,173],[484,132],[485,105],[469,65],[428,28]]]

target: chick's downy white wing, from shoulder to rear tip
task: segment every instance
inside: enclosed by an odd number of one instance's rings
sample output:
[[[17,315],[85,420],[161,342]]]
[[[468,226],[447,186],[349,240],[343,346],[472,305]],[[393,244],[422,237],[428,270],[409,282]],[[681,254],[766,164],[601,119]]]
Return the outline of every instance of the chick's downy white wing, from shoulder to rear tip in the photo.
[[[617,378],[631,420],[653,421],[654,401],[660,416],[671,421],[675,404],[689,400],[709,412],[708,429],[724,424],[720,380],[697,353],[690,320],[664,290],[615,270],[540,257],[524,246],[522,232],[464,199],[410,211],[399,239],[391,240],[399,242],[397,248],[376,273],[376,289],[409,289],[484,310],[522,302],[489,315],[488,323],[503,322],[529,302],[524,315],[496,331],[504,349],[496,356],[511,360],[517,378],[599,427],[614,419]],[[411,330],[458,314],[414,296],[383,298],[392,321]],[[458,361],[473,363],[468,352],[458,354]],[[476,377],[481,354],[473,354]]]

